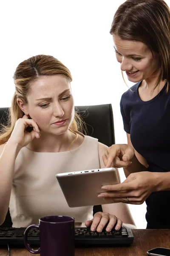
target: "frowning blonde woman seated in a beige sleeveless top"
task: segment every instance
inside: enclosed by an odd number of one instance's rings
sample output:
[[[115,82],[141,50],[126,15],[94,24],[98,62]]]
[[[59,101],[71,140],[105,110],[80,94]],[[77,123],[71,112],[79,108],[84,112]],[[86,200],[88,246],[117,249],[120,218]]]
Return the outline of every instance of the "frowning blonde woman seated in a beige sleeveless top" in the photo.
[[[134,224],[126,204],[69,208],[55,178],[58,172],[103,168],[107,146],[78,131],[71,73],[56,58],[37,55],[14,73],[11,122],[0,136],[0,223],[8,207],[13,227],[38,224],[41,216],[69,215],[77,227],[116,230]],[[88,159],[88,160],[87,160]]]

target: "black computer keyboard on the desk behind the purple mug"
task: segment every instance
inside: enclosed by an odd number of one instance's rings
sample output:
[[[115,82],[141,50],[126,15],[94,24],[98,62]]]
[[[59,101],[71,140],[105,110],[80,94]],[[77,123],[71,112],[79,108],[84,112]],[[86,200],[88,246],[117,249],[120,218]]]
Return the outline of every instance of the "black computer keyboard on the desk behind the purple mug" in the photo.
[[[0,247],[7,244],[11,247],[24,246],[23,236],[25,227],[0,227]],[[130,228],[122,227],[121,230],[111,232],[92,232],[90,228],[75,228],[75,246],[127,246],[133,242],[133,234]],[[28,243],[31,246],[39,246],[39,230],[30,229]]]

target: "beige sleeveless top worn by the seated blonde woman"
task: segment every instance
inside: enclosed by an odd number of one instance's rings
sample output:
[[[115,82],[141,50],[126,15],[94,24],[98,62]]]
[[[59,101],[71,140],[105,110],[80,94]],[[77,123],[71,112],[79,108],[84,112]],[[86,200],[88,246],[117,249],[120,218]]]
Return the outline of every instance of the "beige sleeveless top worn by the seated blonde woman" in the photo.
[[[72,216],[77,227],[85,226],[93,218],[93,206],[68,207],[55,175],[99,167],[98,140],[93,137],[85,136],[77,149],[66,152],[40,153],[23,147],[15,161],[9,203],[13,227],[38,224],[48,215]]]

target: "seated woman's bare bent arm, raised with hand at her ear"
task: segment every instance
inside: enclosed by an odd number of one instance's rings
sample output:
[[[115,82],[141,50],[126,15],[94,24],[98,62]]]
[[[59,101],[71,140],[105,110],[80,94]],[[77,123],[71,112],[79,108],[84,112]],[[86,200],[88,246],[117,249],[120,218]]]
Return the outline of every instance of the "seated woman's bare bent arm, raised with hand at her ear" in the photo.
[[[30,133],[26,131],[28,126],[34,128]],[[34,120],[25,115],[17,120],[8,142],[0,145],[0,224],[4,222],[8,212],[17,154],[35,137],[39,138],[39,132]]]

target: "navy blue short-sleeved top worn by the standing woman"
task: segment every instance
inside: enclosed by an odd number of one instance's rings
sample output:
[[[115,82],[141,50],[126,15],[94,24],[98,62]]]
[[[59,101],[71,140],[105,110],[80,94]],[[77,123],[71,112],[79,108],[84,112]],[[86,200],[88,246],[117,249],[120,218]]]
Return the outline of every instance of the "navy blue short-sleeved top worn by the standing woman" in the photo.
[[[149,172],[170,171],[170,90],[167,84],[149,101],[142,101],[133,85],[121,98],[125,131],[133,147],[149,165]],[[146,200],[147,228],[170,228],[170,191],[153,192]]]

